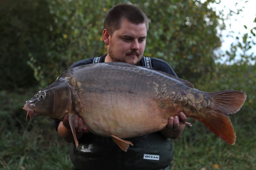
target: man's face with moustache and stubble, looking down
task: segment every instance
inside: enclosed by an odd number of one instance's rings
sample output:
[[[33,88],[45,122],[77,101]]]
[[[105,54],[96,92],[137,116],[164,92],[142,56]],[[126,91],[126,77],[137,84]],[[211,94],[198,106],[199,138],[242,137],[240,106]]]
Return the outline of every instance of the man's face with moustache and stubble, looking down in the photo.
[[[121,27],[109,36],[108,54],[105,61],[119,61],[137,65],[146,45],[146,24],[133,24],[122,19]]]

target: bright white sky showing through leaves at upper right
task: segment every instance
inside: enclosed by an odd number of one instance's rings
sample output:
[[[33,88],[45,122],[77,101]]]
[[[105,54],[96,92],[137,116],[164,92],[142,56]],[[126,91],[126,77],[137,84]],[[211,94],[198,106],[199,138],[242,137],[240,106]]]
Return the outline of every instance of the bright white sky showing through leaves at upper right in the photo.
[[[237,8],[244,7],[239,15],[232,16],[230,20],[225,21],[226,31],[222,31],[223,38],[221,39],[222,46],[220,48],[222,52],[230,49],[231,43],[236,41],[236,36],[243,37],[245,33],[249,33],[249,35],[251,35],[250,30],[256,27],[256,23],[253,22],[256,17],[256,0],[221,0],[219,4],[213,4],[211,7],[216,8],[216,11],[223,9],[226,14],[229,13],[229,9],[236,12]],[[230,27],[229,24],[231,25]],[[246,25],[247,29],[245,29],[244,25]],[[234,38],[225,36],[228,34],[228,31],[234,32]],[[254,33],[256,33],[256,30],[254,30]],[[256,42],[256,37],[253,37],[253,40]],[[240,41],[242,41],[242,38]],[[252,46],[252,49],[249,51],[250,54],[251,52],[256,54],[255,45]],[[225,57],[220,62],[224,61]],[[255,61],[252,63],[255,63]]]

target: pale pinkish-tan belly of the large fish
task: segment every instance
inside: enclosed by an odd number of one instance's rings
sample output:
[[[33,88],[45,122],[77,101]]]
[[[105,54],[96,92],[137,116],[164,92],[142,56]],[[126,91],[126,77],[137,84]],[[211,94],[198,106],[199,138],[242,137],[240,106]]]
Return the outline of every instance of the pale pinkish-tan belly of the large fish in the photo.
[[[92,133],[119,138],[162,130],[168,116],[154,100],[128,94],[90,94],[83,100],[83,119]]]

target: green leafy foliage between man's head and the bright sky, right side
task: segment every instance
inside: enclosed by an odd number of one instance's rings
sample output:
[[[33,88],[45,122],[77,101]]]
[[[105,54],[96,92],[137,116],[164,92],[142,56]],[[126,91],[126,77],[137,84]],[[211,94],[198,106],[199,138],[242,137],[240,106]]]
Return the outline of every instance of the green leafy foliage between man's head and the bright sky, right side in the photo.
[[[221,45],[216,27],[223,27],[218,22],[221,18],[208,8],[211,2],[146,3],[142,8],[151,22],[145,55],[164,59],[182,78],[207,73],[215,64],[213,50]]]

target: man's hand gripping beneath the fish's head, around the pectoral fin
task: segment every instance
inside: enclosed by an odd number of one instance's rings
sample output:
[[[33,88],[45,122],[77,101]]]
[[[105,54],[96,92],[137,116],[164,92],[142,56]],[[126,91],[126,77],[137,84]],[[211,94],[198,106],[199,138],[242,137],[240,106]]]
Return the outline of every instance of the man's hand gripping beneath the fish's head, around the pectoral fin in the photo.
[[[66,129],[71,130],[69,125],[69,116],[67,113],[63,117],[63,126],[65,126]],[[84,132],[84,133],[89,132],[89,130],[84,126],[83,118],[80,117],[79,114],[75,115],[74,126],[76,131],[78,132]]]

